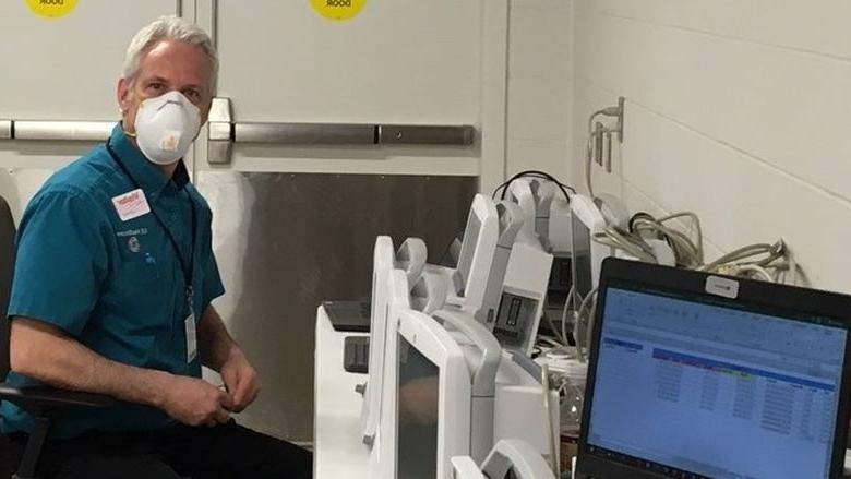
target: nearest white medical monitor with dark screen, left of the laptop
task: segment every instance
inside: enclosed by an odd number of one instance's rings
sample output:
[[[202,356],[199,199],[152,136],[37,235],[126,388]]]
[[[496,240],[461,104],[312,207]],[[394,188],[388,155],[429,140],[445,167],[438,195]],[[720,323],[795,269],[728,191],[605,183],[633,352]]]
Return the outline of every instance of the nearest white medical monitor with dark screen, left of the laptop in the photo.
[[[396,308],[391,314],[371,478],[448,478],[451,457],[482,460],[501,439],[522,439],[550,455],[559,415],[544,402],[558,404],[558,393],[527,371],[537,364],[504,351],[467,313],[430,318]]]

